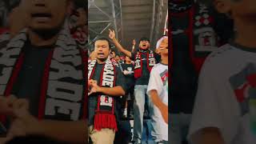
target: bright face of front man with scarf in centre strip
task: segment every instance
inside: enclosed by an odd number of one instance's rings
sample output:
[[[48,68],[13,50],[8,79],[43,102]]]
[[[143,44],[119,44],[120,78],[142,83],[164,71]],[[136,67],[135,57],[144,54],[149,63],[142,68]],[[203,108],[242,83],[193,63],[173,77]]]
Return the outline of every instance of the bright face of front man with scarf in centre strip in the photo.
[[[101,61],[106,60],[106,58],[110,54],[110,46],[106,40],[98,40],[95,42],[94,51],[96,54],[96,58]]]

